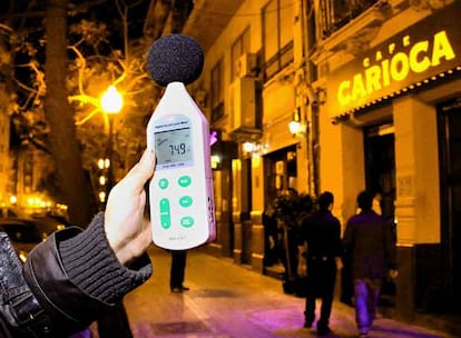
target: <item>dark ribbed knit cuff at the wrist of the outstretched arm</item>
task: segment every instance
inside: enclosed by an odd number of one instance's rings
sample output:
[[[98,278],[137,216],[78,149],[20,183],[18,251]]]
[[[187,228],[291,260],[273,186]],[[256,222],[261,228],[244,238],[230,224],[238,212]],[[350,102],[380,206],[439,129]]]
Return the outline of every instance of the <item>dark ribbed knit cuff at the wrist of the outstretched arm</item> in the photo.
[[[119,302],[153,274],[146,254],[130,267],[117,260],[106,238],[102,212],[96,215],[87,230],[60,242],[59,252],[69,279],[84,292],[107,304]]]

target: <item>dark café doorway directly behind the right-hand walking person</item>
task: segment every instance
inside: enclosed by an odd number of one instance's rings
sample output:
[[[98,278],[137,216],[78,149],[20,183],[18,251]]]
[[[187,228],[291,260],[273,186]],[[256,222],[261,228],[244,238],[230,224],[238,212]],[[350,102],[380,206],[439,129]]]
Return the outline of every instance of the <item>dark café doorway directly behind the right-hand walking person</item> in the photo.
[[[365,186],[381,197],[381,213],[394,220],[395,147],[393,125],[365,129]]]

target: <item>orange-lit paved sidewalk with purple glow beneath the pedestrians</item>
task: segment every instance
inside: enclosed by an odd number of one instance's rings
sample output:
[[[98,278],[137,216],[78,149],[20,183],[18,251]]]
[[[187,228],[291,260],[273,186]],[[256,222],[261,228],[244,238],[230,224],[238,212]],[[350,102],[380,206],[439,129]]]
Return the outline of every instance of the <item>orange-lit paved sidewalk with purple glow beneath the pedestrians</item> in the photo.
[[[192,250],[185,294],[169,291],[169,255],[151,248],[154,276],[128,295],[125,305],[135,338],[316,337],[303,329],[304,299],[285,295],[279,280]],[[328,337],[354,337],[354,312],[335,302]],[[379,318],[371,337],[451,337]]]

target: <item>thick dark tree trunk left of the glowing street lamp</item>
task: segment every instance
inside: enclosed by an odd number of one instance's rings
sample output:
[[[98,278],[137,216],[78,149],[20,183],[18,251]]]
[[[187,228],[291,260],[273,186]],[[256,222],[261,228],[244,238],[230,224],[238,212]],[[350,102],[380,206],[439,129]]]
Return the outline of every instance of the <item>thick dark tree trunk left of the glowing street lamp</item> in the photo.
[[[70,221],[86,225],[90,217],[89,187],[82,170],[73,117],[67,101],[67,0],[47,0],[45,115],[50,125],[51,153]],[[61,32],[61,33],[59,33]]]

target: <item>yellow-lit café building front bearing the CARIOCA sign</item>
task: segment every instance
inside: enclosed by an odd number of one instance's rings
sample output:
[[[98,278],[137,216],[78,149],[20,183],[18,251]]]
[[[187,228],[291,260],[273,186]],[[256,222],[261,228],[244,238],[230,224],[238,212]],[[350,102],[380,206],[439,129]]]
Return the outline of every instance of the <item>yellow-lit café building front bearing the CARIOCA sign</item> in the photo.
[[[326,95],[322,189],[341,198],[343,219],[357,190],[381,193],[396,226],[401,318],[459,314],[460,12],[460,1],[377,1],[323,30],[312,56]]]

